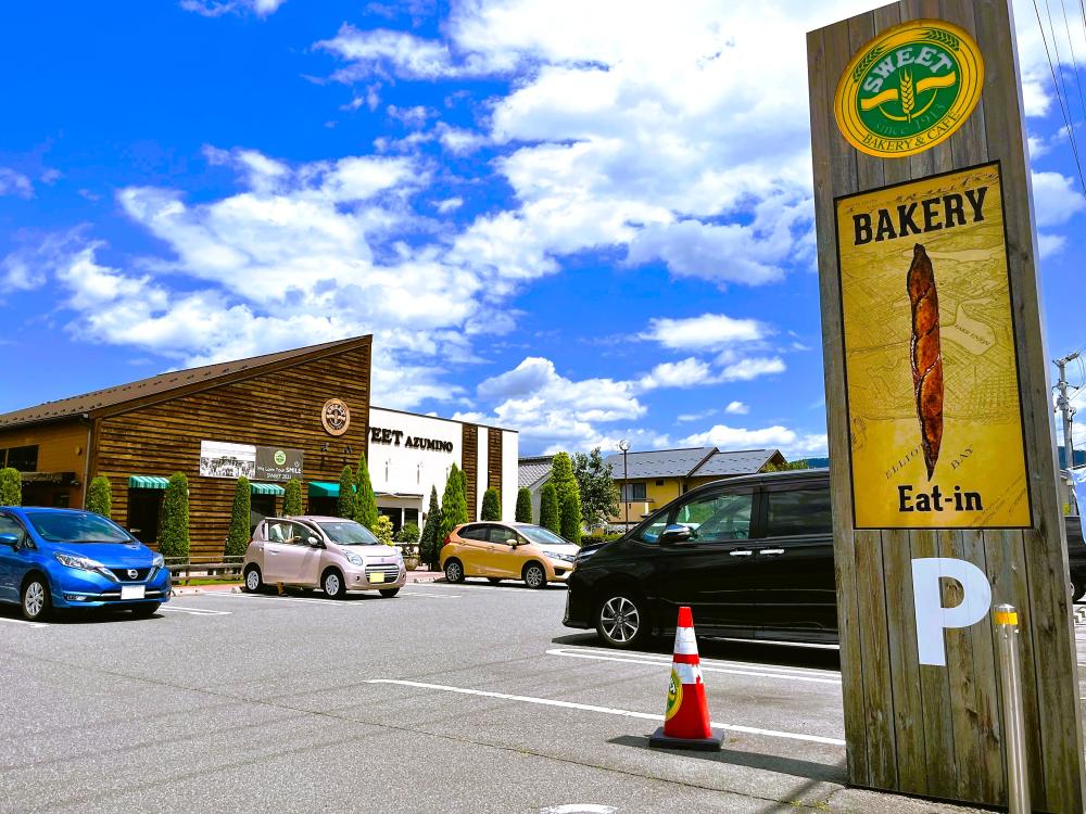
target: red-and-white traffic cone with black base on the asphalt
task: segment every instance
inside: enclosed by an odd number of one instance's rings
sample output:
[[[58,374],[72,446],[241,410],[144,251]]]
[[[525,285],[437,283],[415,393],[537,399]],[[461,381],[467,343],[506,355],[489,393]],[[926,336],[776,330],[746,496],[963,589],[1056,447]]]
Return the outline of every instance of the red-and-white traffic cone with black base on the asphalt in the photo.
[[[694,619],[690,608],[683,606],[679,609],[664,726],[653,733],[648,746],[708,752],[720,749],[721,740],[722,737],[712,732],[709,723],[709,704],[705,699],[702,662],[697,658],[697,641],[694,638]]]

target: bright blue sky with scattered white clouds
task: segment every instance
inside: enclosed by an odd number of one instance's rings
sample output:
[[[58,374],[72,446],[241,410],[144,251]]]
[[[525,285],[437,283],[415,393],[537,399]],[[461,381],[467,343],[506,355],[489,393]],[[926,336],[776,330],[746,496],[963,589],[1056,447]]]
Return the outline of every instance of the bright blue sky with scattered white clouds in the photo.
[[[522,454],[824,454],[804,33],[870,3],[811,5],[7,5],[0,411],[372,332],[375,404]],[[1060,355],[1086,200],[1015,9]]]

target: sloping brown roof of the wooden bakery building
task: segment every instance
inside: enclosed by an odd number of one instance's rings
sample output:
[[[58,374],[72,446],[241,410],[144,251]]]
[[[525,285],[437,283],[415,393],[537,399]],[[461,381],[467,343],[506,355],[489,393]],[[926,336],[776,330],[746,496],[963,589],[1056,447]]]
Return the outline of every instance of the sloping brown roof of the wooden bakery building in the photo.
[[[348,349],[355,345],[364,345],[371,341],[371,339],[368,335],[353,336],[334,342],[324,342],[318,345],[296,347],[291,351],[252,356],[248,359],[220,361],[215,365],[204,365],[199,368],[152,376],[128,384],[118,384],[114,387],[96,390],[79,396],[62,398],[56,402],[46,402],[36,407],[27,407],[22,410],[4,414],[0,416],[0,429],[74,418],[99,410],[110,410],[111,408],[122,407],[128,402],[147,398],[148,396],[166,395],[172,391],[180,391],[182,389],[191,387],[200,390],[202,389],[201,385],[213,386],[219,379],[248,378],[249,374],[255,376],[269,368],[289,367],[291,364],[306,360],[311,356],[319,357],[331,351]],[[239,373],[247,373],[247,376],[239,376]]]

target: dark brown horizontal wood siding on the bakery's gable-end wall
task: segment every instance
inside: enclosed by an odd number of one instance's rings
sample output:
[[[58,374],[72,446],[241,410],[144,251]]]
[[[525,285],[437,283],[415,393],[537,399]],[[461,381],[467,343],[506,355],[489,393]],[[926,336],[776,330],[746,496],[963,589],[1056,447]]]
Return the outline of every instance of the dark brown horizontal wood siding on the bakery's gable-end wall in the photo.
[[[114,519],[127,524],[129,475],[184,472],[191,554],[220,555],[235,481],[200,476],[200,442],[302,449],[306,481],[338,483],[343,466],[355,466],[366,451],[369,373],[370,346],[365,344],[99,419],[92,467],[113,485]],[[338,437],[320,424],[329,398],[342,398],[351,410],[350,429]]]

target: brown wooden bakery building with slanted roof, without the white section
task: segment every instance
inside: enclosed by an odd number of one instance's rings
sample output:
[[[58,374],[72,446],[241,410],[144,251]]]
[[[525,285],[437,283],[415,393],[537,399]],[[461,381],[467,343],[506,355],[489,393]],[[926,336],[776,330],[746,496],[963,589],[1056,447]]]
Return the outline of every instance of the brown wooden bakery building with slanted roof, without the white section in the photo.
[[[81,507],[90,479],[106,475],[113,519],[151,546],[166,480],[184,472],[191,554],[219,555],[239,474],[254,481],[254,510],[273,513],[291,465],[303,481],[338,484],[343,466],[365,454],[371,344],[328,342],[9,412],[0,416],[0,466],[23,472],[28,506]],[[227,454],[211,459],[209,450]],[[285,466],[257,476],[261,450]],[[328,509],[317,496],[311,503]]]

